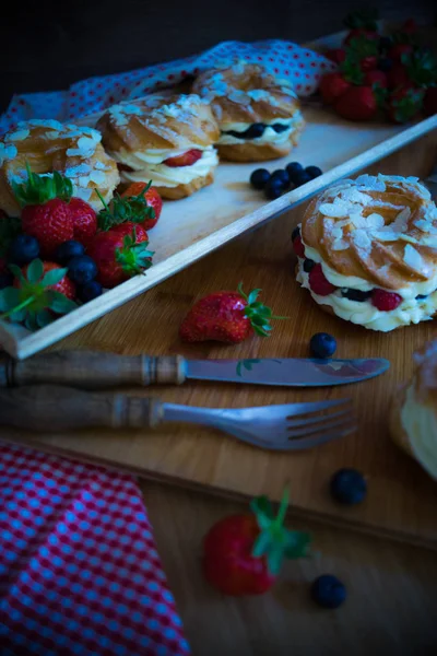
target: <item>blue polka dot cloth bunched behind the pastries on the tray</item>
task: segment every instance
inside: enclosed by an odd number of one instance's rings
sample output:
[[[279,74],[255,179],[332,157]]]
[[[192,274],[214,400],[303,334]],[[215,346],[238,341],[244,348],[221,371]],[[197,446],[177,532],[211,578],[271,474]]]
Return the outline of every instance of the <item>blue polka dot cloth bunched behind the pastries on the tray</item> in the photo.
[[[73,121],[120,101],[138,98],[172,86],[218,63],[232,63],[235,59],[262,63],[273,73],[292,81],[299,96],[314,93],[321,75],[336,69],[335,65],[322,55],[291,42],[224,42],[201,55],[186,59],[128,73],[90,78],[76,82],[68,91],[15,95],[8,112],[0,117],[0,132],[11,129],[17,120],[29,118]]]

